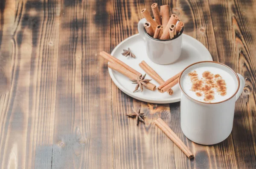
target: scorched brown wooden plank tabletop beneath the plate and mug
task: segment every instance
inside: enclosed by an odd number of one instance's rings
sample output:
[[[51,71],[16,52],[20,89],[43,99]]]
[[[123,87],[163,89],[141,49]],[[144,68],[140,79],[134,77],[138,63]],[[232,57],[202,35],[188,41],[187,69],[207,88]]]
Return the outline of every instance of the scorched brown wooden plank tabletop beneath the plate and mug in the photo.
[[[15,22],[11,88],[0,95],[1,169],[256,168],[255,1],[157,1],[170,5],[185,33],[203,43],[213,60],[246,79],[232,134],[213,146],[183,135],[179,102],[150,104],[121,92],[99,57],[137,34],[140,10],[155,1],[20,0],[15,9],[14,1],[0,2],[1,19],[13,16]],[[6,24],[0,23],[1,36],[10,32]],[[125,116],[132,107],[145,112],[144,125]],[[154,125],[158,117],[195,159]]]

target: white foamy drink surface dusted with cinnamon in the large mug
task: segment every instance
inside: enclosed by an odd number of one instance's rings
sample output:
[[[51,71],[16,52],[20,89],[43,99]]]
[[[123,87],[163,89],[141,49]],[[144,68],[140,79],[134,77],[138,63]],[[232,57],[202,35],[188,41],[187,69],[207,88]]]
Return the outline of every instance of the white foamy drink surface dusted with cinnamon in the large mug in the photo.
[[[236,92],[237,82],[223,69],[203,66],[188,69],[184,73],[182,89],[195,100],[216,103],[230,98]]]

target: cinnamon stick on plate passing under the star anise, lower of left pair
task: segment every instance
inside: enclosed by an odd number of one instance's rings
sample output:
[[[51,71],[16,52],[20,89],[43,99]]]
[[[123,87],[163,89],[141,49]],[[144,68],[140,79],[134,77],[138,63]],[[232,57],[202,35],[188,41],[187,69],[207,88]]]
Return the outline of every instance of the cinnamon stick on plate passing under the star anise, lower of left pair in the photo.
[[[109,62],[109,63],[108,63],[108,67],[109,67],[110,69],[113,69],[113,70],[115,70],[115,71],[117,71],[117,72],[119,72],[119,73],[125,75],[125,76],[128,77],[129,79],[137,79],[137,75],[136,75],[136,74],[134,74],[134,73],[128,71],[127,69],[125,69],[125,67],[123,67],[123,66],[121,66],[121,65],[119,65],[119,64],[117,64],[117,63]],[[154,84],[152,84],[152,83],[150,83],[150,82],[146,83],[146,86],[145,86],[145,87],[146,87],[147,89],[149,89],[149,90],[152,90],[152,91],[154,91],[154,90],[156,89],[156,85],[154,85]]]

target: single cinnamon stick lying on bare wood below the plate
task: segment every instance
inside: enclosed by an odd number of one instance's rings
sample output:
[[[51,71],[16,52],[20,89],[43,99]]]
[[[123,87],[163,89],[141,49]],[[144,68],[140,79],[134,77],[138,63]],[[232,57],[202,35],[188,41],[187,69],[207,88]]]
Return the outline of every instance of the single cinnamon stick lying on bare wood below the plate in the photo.
[[[194,158],[194,155],[189,148],[161,118],[154,120],[154,123],[184,152],[189,159]]]

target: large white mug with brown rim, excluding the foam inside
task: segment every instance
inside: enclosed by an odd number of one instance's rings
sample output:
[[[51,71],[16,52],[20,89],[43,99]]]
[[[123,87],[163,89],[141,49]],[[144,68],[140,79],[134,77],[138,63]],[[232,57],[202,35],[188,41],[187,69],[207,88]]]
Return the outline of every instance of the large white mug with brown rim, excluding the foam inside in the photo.
[[[236,82],[234,84],[235,93],[230,98],[217,103],[204,103],[189,97],[181,86],[183,76],[188,73],[186,71],[188,68],[195,69],[198,66],[215,66],[228,72]],[[225,140],[232,131],[235,103],[241,95],[244,85],[244,77],[222,63],[203,61],[186,67],[179,77],[180,125],[184,135],[189,140],[204,145],[216,144]]]

